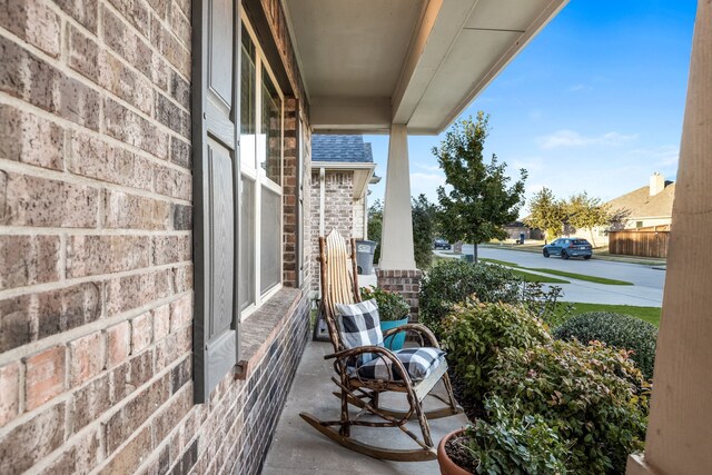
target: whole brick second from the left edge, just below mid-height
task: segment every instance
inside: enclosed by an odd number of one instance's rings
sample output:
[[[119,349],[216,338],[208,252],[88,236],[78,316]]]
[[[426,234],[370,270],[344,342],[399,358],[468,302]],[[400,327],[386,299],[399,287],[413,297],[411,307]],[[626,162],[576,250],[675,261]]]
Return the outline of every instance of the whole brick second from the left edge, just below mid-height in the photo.
[[[67,276],[85,277],[148,267],[150,239],[148,236],[70,236]]]

